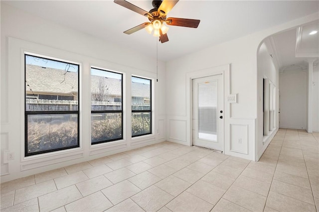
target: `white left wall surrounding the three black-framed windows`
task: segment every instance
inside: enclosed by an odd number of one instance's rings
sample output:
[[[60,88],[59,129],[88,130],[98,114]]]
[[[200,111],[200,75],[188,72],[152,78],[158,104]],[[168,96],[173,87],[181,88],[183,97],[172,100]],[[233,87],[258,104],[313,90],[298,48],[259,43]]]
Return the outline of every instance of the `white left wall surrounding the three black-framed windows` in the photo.
[[[165,140],[165,66],[156,59],[123,49],[105,40],[30,15],[1,2],[1,155],[7,149],[14,160],[3,163],[1,182],[88,161],[94,158]],[[24,157],[24,70],[23,52],[78,62],[80,70],[80,147]],[[124,73],[124,140],[90,145],[90,66]],[[154,79],[153,134],[131,138],[131,75]]]

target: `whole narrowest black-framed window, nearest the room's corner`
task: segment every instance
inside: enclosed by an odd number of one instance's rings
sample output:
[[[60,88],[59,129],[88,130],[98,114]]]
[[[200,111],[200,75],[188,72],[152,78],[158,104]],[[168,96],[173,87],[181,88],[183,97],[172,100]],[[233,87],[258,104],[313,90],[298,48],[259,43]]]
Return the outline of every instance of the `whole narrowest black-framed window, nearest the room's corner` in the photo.
[[[152,81],[132,77],[132,137],[152,133]]]

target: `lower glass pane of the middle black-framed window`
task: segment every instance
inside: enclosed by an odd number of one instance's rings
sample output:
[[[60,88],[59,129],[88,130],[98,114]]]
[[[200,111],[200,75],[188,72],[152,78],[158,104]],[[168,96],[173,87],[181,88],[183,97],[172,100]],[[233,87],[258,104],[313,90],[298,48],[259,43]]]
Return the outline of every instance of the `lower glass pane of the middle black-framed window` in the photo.
[[[91,113],[92,143],[122,139],[122,112]]]

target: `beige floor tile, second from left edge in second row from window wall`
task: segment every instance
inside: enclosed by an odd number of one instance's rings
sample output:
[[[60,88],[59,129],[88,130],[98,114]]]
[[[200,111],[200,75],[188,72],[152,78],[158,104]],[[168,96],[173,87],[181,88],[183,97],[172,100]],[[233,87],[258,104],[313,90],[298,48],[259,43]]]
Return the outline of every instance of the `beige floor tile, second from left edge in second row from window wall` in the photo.
[[[56,191],[53,180],[37,183],[15,191],[14,205]]]

